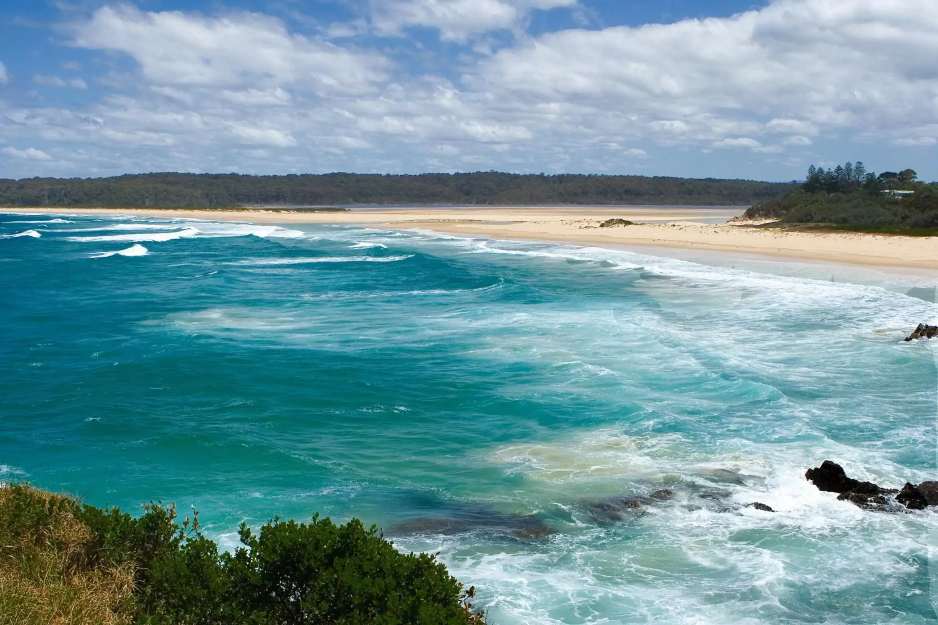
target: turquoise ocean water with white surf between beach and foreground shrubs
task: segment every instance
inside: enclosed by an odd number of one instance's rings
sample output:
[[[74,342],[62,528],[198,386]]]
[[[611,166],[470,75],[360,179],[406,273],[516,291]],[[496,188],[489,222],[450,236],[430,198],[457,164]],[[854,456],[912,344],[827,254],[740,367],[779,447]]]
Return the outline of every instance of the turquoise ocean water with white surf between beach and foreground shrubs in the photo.
[[[938,515],[803,478],[938,475],[932,276],[656,254],[0,216],[0,480],[357,516],[492,625],[935,620]]]

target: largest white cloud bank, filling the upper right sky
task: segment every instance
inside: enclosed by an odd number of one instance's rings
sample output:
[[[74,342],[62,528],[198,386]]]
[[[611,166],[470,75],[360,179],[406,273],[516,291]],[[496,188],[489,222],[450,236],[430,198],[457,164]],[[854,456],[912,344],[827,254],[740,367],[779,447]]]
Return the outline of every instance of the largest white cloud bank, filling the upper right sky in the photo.
[[[938,114],[936,31],[933,0],[778,0],[731,18],[547,34],[466,80],[526,103],[594,106],[599,121],[634,114],[698,141],[734,134],[718,127],[733,123],[916,133]]]

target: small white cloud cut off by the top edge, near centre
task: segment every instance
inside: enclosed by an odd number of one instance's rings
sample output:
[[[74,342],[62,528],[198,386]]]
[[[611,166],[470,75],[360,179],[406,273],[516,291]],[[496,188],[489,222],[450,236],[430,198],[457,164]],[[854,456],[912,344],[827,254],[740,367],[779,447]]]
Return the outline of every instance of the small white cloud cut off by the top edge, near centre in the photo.
[[[372,24],[400,36],[411,26],[436,28],[440,38],[464,42],[493,30],[517,28],[533,9],[575,7],[577,0],[378,0]]]

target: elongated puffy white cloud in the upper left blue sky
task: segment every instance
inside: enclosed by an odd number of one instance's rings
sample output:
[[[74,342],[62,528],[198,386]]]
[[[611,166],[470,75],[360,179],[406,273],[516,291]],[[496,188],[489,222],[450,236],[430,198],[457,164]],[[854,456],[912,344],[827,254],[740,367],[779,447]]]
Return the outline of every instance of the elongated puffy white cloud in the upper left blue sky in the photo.
[[[385,78],[377,52],[350,52],[302,35],[257,13],[207,18],[181,11],[101,7],[74,27],[74,45],[126,52],[160,85],[276,88],[362,93]]]

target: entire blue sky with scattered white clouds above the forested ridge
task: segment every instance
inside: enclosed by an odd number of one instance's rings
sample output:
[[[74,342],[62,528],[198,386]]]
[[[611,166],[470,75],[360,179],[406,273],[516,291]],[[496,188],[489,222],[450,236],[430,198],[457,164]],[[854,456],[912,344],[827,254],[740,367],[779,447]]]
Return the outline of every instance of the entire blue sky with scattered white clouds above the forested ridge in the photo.
[[[938,179],[936,0],[3,0],[0,178]]]

